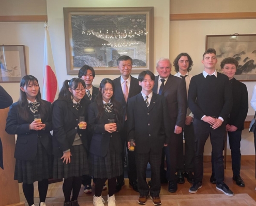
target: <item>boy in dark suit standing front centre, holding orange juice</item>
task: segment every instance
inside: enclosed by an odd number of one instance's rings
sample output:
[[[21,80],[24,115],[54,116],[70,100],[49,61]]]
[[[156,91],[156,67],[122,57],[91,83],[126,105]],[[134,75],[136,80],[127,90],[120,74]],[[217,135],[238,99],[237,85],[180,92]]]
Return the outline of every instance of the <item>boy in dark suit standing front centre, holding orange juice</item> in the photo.
[[[127,130],[129,140],[135,140],[135,153],[138,189],[138,202],[145,204],[148,194],[152,196],[153,204],[161,204],[159,193],[161,190],[160,164],[163,146],[170,140],[170,126],[167,102],[163,96],[153,93],[155,75],[150,71],[139,74],[142,91],[128,101]],[[146,182],[147,163],[151,166],[152,186]]]

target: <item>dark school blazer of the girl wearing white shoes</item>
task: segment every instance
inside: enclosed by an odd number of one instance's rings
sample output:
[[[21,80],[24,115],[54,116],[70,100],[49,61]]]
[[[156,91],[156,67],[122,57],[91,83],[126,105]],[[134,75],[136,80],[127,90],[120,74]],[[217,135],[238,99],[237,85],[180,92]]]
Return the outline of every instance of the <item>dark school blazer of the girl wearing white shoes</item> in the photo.
[[[116,107],[118,111],[122,112],[122,105],[119,102],[116,102],[113,107]],[[116,119],[116,114],[114,111],[111,113],[104,112],[103,116],[96,120],[96,117],[99,113],[98,106],[96,102],[93,102],[89,105],[88,108],[88,118],[89,118],[89,126],[88,129],[93,133],[90,152],[94,155],[105,157],[109,150],[110,139],[111,143],[114,146],[114,149],[117,153],[121,153],[123,151],[123,146],[121,143],[121,135],[120,132],[122,129],[122,124],[117,123],[117,129],[115,132],[109,133],[105,131],[104,126],[108,124],[108,119]]]

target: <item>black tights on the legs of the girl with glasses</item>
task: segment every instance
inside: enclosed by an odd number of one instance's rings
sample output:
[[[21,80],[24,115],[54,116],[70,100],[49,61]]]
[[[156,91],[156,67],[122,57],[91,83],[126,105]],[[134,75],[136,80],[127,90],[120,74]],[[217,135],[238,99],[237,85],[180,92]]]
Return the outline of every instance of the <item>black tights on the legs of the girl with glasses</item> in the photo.
[[[64,179],[62,186],[65,202],[70,202],[71,191],[72,199],[71,201],[78,200],[79,191],[82,185],[82,177],[69,177]]]

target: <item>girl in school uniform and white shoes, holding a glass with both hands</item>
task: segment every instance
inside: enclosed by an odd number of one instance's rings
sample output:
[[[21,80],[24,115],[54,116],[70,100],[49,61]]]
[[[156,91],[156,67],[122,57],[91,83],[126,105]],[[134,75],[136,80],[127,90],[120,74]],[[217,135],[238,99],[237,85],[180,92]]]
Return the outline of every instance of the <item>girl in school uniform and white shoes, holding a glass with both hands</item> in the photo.
[[[123,148],[119,132],[122,129],[123,109],[121,103],[113,97],[115,88],[111,79],[103,79],[99,90],[88,109],[88,129],[93,133],[90,146],[91,175],[97,179],[93,204],[104,205],[101,192],[108,179],[108,205],[115,206],[115,179],[123,174]]]

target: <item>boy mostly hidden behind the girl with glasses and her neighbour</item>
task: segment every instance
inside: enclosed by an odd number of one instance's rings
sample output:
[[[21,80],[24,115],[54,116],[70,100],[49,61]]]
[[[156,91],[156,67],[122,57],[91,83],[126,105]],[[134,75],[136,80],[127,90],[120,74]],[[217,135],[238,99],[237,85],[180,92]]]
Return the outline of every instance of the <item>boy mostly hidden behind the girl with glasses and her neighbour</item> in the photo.
[[[85,86],[86,86],[86,95],[84,95],[84,98],[87,100],[90,100],[91,102],[94,102],[94,99],[96,95],[99,93],[99,88],[96,88],[93,86],[93,80],[95,78],[95,71],[92,66],[89,65],[83,65],[79,72],[78,77],[84,80]],[[92,133],[88,132],[87,138],[88,138],[88,147],[91,145],[92,140]],[[94,184],[96,182],[96,179],[93,180]],[[82,184],[84,185],[84,193],[92,193],[92,176],[90,175],[83,175],[82,177]],[[102,190],[107,190],[107,185],[105,184],[103,186]]]

